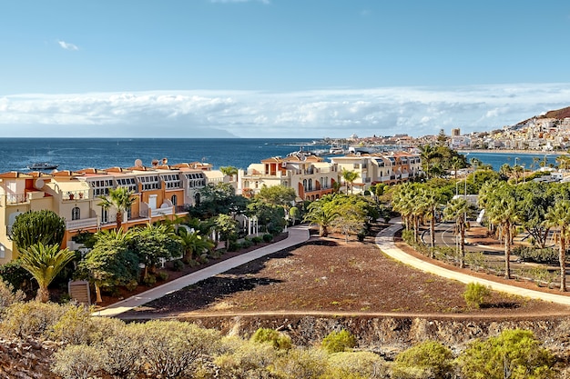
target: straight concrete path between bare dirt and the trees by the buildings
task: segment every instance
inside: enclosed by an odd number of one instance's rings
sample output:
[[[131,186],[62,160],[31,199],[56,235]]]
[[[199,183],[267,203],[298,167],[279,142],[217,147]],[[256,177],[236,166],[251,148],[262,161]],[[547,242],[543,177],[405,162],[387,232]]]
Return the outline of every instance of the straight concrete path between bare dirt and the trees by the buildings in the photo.
[[[136,294],[134,296],[128,297],[118,303],[111,304],[105,309],[101,309],[95,312],[95,315],[101,316],[117,316],[127,312],[137,306],[147,304],[155,299],[163,297],[166,294],[171,294],[184,287],[191,284],[196,284],[199,281],[208,279],[210,276],[225,273],[226,271],[238,267],[241,264],[247,264],[250,261],[258,259],[267,254],[273,254],[279,252],[280,250],[287,249],[296,244],[302,244],[303,242],[309,240],[309,227],[306,225],[293,226],[289,229],[289,236],[276,242],[274,244],[268,244],[266,246],[260,247],[259,249],[252,250],[248,253],[240,254],[229,258],[225,261],[219,262],[218,264],[212,264],[202,270],[198,270],[195,273],[188,274],[178,279],[175,279],[166,284],[159,285],[141,294]]]

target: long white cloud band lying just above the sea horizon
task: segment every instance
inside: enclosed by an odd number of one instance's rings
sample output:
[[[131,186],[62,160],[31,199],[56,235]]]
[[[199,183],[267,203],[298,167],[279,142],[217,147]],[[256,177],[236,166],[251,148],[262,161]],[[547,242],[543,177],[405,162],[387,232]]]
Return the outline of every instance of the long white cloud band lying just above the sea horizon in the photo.
[[[205,128],[242,137],[433,135],[514,125],[568,99],[568,84],[10,95],[0,98],[0,135],[32,125],[36,136],[192,136]]]

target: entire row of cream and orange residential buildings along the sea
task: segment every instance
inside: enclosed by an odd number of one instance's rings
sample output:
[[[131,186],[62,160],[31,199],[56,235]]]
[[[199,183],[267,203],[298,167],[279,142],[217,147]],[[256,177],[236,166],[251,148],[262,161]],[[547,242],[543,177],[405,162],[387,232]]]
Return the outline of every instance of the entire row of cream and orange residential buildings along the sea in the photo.
[[[362,192],[376,183],[401,183],[421,173],[420,156],[408,153],[351,154],[331,158],[295,154],[272,157],[239,170],[237,181],[204,163],[152,166],[135,165],[107,169],[0,174],[0,264],[17,257],[10,240],[15,217],[26,211],[51,210],[66,219],[64,246],[76,248],[72,237],[79,232],[97,232],[117,226],[117,210],[101,205],[109,190],[126,187],[134,203],[123,214],[122,227],[152,223],[188,214],[197,204],[199,189],[208,184],[231,183],[236,193],[252,197],[264,186],[284,185],[295,189],[297,201],[317,200],[335,187],[346,191],[342,171],[358,173],[351,191]],[[337,184],[337,185],[335,185]]]

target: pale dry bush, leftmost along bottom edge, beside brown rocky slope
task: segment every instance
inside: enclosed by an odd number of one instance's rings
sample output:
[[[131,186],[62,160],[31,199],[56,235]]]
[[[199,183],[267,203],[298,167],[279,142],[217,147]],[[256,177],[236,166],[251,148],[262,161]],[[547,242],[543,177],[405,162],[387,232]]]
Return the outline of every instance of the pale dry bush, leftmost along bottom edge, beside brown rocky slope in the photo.
[[[102,363],[98,347],[69,345],[54,354],[52,372],[64,379],[87,379],[97,373]]]

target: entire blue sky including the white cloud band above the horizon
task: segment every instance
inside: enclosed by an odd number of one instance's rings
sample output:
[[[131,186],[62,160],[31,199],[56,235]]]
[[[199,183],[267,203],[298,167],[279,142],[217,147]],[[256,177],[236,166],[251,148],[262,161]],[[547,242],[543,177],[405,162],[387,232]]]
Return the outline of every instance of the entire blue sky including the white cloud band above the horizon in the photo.
[[[0,0],[0,137],[448,135],[570,106],[570,2]]]

